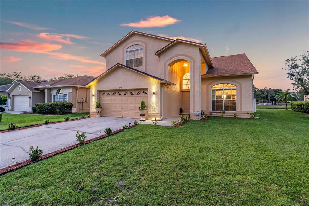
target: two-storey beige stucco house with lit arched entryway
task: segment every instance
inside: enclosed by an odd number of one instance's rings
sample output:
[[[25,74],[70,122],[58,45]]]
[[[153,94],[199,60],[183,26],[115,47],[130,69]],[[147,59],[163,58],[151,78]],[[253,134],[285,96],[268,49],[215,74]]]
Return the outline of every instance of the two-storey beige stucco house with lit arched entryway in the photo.
[[[96,98],[108,117],[161,120],[183,114],[199,119],[206,114],[248,118],[254,111],[253,79],[258,74],[245,54],[210,58],[205,44],[131,31],[102,57],[107,70],[89,82],[90,114]]]

